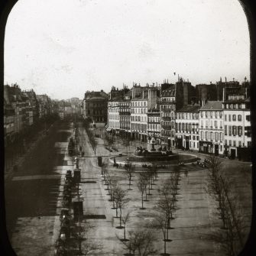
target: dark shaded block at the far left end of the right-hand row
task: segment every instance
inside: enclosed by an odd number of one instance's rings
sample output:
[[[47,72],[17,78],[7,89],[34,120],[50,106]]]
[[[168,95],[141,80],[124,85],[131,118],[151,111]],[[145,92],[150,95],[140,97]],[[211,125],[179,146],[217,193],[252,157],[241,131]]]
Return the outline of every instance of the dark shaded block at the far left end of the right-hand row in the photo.
[[[83,118],[89,118],[92,122],[106,123],[108,99],[108,94],[103,90],[100,92],[87,91],[83,99]]]

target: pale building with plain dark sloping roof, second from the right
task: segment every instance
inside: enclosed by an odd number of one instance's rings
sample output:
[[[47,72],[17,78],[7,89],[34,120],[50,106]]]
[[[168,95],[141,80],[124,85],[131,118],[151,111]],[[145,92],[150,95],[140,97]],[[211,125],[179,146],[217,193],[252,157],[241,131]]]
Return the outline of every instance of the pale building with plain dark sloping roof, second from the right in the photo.
[[[224,153],[222,102],[209,101],[199,109],[199,152]]]

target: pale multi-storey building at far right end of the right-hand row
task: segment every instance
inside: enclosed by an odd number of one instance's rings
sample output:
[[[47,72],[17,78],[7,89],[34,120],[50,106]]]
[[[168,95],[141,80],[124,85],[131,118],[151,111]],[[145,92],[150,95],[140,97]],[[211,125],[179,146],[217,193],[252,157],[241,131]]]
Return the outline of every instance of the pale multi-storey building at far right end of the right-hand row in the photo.
[[[243,88],[245,89],[245,88]],[[224,95],[222,102],[224,114],[224,147],[225,155],[232,159],[250,160],[251,157],[251,112],[250,98],[245,93]],[[238,92],[238,91],[237,91]]]

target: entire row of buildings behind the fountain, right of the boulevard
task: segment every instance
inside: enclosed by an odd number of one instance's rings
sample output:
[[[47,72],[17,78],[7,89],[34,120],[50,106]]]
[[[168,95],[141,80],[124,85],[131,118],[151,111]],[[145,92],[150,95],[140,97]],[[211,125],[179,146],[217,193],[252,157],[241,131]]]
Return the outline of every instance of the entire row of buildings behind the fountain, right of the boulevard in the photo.
[[[237,81],[192,86],[177,83],[131,89],[112,87],[109,94],[86,92],[84,118],[105,122],[106,131],[170,148],[245,157],[251,147],[250,83]]]

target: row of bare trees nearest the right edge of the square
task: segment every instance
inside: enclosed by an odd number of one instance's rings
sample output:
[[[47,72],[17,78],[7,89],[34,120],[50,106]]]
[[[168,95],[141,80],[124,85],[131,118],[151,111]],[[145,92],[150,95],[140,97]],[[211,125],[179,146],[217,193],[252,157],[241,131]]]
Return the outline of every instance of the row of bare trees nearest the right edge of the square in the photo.
[[[233,191],[233,183],[230,178],[222,175],[222,161],[213,155],[206,159],[209,168],[209,181],[206,185],[206,192],[218,203],[217,210],[222,219],[222,230],[215,238],[222,245],[228,256],[238,254],[243,248],[243,220],[241,208]]]

